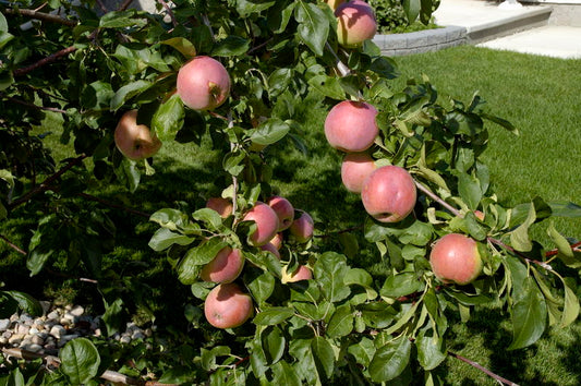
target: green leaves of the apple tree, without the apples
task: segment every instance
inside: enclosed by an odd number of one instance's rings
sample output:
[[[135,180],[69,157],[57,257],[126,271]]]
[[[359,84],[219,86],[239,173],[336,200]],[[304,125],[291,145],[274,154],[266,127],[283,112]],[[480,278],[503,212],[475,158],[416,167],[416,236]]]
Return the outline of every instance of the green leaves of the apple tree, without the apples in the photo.
[[[20,206],[36,209],[27,252],[32,275],[68,251],[66,272],[82,269],[99,279],[107,334],[119,327],[126,311],[123,291],[142,299],[142,307],[155,318],[144,300],[148,289],[138,278],[102,267],[104,251],[123,242],[114,238],[114,209],[83,201],[102,202],[88,194],[92,188],[121,184],[129,192],[124,198],[137,202],[131,193],[154,171],[164,172],[148,160],[123,158],[114,147],[112,132],[126,110],[137,108],[138,121],[165,143],[210,142],[220,167],[213,170],[215,191],[205,194],[230,198],[234,207],[233,215],[221,218],[178,197],[149,217],[149,227],[155,226],[150,249],[166,257],[173,281],[183,285],[177,288],[192,293],[184,309],[191,335],[175,334],[161,354],[140,346],[121,355],[102,341],[74,340],[61,350],[58,372],[44,377],[36,363],[26,373],[29,382],[39,376],[45,385],[96,383],[107,366],[114,366],[175,384],[404,384],[419,377],[436,383],[433,370],[447,354],[450,312],[465,322],[473,307],[496,300],[512,317],[511,350],[534,343],[547,325],[562,327],[577,318],[576,278],[566,276],[579,268],[581,255],[547,221],[555,207],[541,197],[515,208],[497,202],[481,159],[488,124],[517,130],[484,111],[477,95],[468,102],[441,102],[427,77],[392,91],[394,62],[370,41],[358,50],[339,50],[336,21],[324,3],[174,4],[166,20],[136,10],[98,16],[90,8],[56,1],[46,10],[64,7],[68,16],[55,23],[35,21],[32,28],[21,27],[25,13],[1,5],[2,14],[13,15],[0,19],[1,104],[8,111],[1,131],[41,144],[41,137],[29,133],[43,111],[50,110],[62,119],[62,143],[72,142],[76,152],[50,174],[48,152],[33,146],[31,156],[20,160],[13,158],[12,143],[1,143],[4,158],[15,159],[1,174],[2,217]],[[432,3],[407,2],[404,10],[410,20],[426,21]],[[220,59],[232,79],[231,97],[211,112],[190,110],[173,95],[177,72],[195,55]],[[346,98],[378,108],[374,158],[409,170],[422,192],[413,215],[403,221],[365,221],[365,240],[386,265],[374,276],[355,260],[323,250],[316,239],[300,243],[289,238],[279,261],[247,243],[255,225],[241,221],[246,209],[277,191],[268,146],[289,141],[306,153],[301,134],[310,128],[301,125],[299,111]],[[46,168],[37,170],[38,162]],[[49,177],[39,184],[40,173]],[[475,210],[485,214],[483,220]],[[537,222],[547,224],[555,243],[548,254],[529,236]],[[472,285],[440,282],[429,268],[431,244],[449,232],[479,242],[485,268]],[[356,255],[356,238],[343,233],[336,234],[339,243]],[[217,330],[204,321],[202,310],[215,285],[201,281],[198,274],[225,245],[243,250],[247,264],[237,281],[252,295],[256,315],[241,327]],[[308,265],[314,279],[283,285],[282,265],[295,269],[299,264]],[[121,358],[140,361],[128,370]],[[7,369],[4,381],[23,382],[17,365]]]

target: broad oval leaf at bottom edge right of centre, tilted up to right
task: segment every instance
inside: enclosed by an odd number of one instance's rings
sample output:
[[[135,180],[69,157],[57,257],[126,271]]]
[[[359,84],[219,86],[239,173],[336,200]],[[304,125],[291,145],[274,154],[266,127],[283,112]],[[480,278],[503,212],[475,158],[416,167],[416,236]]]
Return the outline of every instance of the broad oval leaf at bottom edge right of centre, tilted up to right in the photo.
[[[379,348],[370,363],[373,382],[387,382],[400,375],[410,362],[412,345],[402,335]]]

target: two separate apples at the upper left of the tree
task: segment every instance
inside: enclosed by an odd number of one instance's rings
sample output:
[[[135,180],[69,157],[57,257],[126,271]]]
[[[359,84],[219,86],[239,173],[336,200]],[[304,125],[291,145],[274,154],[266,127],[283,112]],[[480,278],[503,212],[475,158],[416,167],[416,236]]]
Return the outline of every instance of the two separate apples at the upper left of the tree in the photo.
[[[195,57],[178,72],[177,93],[191,109],[213,110],[230,95],[230,75],[216,59]],[[137,124],[137,110],[121,117],[114,131],[114,143],[123,156],[135,161],[153,157],[161,147],[161,141],[147,125]]]

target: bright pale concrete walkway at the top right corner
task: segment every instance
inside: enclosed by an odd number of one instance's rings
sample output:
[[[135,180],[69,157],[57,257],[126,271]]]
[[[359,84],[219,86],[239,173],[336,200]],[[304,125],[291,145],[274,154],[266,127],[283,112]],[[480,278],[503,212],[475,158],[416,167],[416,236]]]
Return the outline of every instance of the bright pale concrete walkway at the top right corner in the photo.
[[[486,0],[441,0],[434,16],[438,25],[463,26],[470,33],[483,27],[501,25],[528,12],[541,12],[546,7],[550,5],[504,9],[498,7],[498,3]],[[556,58],[581,59],[581,27],[546,25],[477,46]]]

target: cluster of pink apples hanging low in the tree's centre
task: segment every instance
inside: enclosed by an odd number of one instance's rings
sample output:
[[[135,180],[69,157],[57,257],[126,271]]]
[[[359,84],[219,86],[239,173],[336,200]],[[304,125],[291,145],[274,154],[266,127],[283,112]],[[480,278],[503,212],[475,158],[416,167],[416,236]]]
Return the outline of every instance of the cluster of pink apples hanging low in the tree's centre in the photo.
[[[222,197],[211,197],[206,207],[216,210],[222,218],[232,215],[232,203]],[[298,210],[299,212],[299,210]],[[266,202],[256,202],[242,217],[242,221],[254,221],[255,230],[249,234],[247,243],[273,253],[280,258],[280,248],[286,236],[298,243],[306,243],[313,237],[313,218],[306,212],[295,217],[292,204],[285,197],[273,196]],[[199,278],[217,282],[204,302],[204,314],[209,324],[217,328],[234,328],[246,322],[254,313],[252,298],[233,282],[242,273],[242,251],[225,246],[216,257],[202,268]],[[313,278],[311,268],[299,265],[294,272],[287,266],[280,273],[281,282],[294,282]]]

